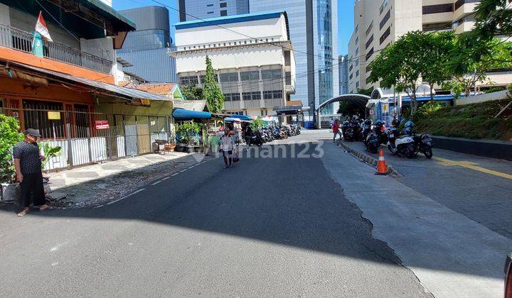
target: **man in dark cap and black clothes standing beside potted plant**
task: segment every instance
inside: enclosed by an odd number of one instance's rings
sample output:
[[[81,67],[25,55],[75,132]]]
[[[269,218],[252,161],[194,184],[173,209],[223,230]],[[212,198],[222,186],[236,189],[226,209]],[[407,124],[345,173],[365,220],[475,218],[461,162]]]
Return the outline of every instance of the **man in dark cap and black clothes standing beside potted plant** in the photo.
[[[13,158],[16,170],[16,180],[21,184],[20,205],[18,216],[28,213],[33,197],[33,206],[40,211],[48,209],[43,189],[43,172],[41,162],[44,156],[39,151],[37,139],[41,137],[39,131],[28,128],[25,131],[25,139],[14,146]]]

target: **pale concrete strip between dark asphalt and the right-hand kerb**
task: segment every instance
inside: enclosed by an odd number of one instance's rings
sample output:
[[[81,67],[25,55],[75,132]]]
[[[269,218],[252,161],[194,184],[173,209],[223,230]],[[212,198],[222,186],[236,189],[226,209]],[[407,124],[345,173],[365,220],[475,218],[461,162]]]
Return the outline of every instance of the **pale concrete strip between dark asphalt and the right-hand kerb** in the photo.
[[[511,239],[400,180],[374,175],[374,167],[332,143],[324,152],[324,166],[373,223],[375,238],[388,243],[435,297],[503,297]]]

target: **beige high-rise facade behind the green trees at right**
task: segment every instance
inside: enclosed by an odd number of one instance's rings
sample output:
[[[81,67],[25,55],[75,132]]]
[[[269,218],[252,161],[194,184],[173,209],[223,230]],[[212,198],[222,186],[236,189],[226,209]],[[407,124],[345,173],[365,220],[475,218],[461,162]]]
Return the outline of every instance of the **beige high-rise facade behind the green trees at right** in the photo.
[[[348,43],[348,90],[377,88],[368,77],[368,65],[378,52],[409,31],[454,31],[474,27],[475,0],[356,0],[354,31]],[[489,76],[495,85],[512,81],[512,72]]]

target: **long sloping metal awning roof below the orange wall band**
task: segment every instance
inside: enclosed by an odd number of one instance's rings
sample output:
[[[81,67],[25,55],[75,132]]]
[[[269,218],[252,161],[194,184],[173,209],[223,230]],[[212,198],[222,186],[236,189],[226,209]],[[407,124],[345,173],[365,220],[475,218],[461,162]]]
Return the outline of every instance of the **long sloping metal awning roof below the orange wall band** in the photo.
[[[33,67],[29,65],[23,65],[19,63],[11,62],[11,65],[16,65],[21,67],[21,71],[23,72],[23,69],[26,70],[32,70],[35,72],[40,72],[46,75],[50,75],[51,77],[55,77],[58,79],[65,79],[70,82],[75,82],[78,84],[85,85],[87,87],[92,87],[92,92],[95,91],[95,89],[100,89],[102,92],[108,92],[113,95],[123,97],[124,99],[149,99],[149,100],[156,100],[156,101],[169,101],[170,99],[166,96],[161,96],[158,94],[151,94],[148,92],[140,91],[137,89],[131,89],[131,88],[125,88],[116,86],[113,84],[107,84],[104,82],[97,82],[92,79],[84,79],[82,77],[75,77],[72,75],[63,74],[62,72],[54,72],[53,70],[45,70],[41,67]],[[51,78],[50,78],[51,79]]]

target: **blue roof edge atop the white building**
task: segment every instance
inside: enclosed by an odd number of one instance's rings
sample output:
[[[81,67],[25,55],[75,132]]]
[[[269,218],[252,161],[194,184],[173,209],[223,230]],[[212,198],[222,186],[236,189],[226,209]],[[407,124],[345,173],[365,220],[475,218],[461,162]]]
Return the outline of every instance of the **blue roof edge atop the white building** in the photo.
[[[216,26],[216,25],[225,25],[229,23],[241,23],[241,22],[250,22],[250,21],[259,21],[266,20],[269,18],[279,18],[281,14],[284,14],[284,18],[287,24],[287,35],[289,39],[289,26],[288,26],[288,16],[286,11],[260,11],[257,13],[245,13],[245,14],[237,14],[233,16],[220,16],[218,18],[203,18],[193,21],[185,21],[175,23],[174,27],[176,29],[188,29],[188,28],[198,28],[198,27],[206,27],[206,26]]]

